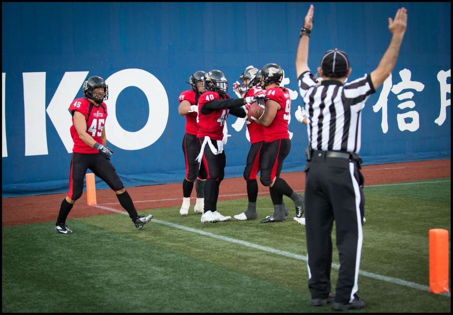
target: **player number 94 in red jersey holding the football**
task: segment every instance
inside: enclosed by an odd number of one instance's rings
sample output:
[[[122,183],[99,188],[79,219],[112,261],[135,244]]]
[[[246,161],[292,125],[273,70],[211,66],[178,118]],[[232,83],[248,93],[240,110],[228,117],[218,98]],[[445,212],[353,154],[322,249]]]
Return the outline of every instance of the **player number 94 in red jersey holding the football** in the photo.
[[[265,88],[266,101],[263,117],[256,120],[263,125],[264,145],[260,159],[260,181],[269,187],[274,212],[261,222],[280,222],[286,220],[283,210],[283,195],[288,196],[296,206],[296,217],[304,212],[304,198],[280,177],[283,161],[291,150],[288,120],[291,114],[291,98],[289,91],[280,87],[283,69],[274,63],[265,65],[261,70],[261,86]]]

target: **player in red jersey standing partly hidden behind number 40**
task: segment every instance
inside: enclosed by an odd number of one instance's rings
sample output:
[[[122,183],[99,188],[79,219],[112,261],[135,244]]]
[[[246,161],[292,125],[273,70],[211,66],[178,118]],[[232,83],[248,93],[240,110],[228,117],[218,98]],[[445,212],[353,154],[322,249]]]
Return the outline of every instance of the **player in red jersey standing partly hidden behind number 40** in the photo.
[[[195,203],[194,211],[203,213],[205,205],[205,181],[207,174],[205,167],[197,162],[197,156],[200,153],[200,141],[197,139],[198,134],[198,99],[205,92],[204,77],[206,72],[195,71],[189,77],[189,84],[192,90],[184,91],[179,96],[178,111],[180,115],[186,117],[186,134],[183,139],[184,160],[186,162],[186,176],[183,181],[183,204],[179,213],[187,215],[190,207],[190,195],[194,188],[197,192],[197,202]]]

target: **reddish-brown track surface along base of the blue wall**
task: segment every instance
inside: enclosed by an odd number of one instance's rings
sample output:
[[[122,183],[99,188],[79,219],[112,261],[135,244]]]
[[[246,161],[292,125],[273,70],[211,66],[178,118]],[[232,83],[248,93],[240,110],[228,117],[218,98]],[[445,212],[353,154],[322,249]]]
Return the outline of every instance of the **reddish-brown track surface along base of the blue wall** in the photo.
[[[369,165],[362,167],[365,186],[415,180],[428,180],[451,176],[451,160],[434,160],[395,164]],[[305,173],[282,173],[281,177],[297,192],[305,190]],[[182,182],[182,181],[181,181]],[[268,196],[269,190],[258,184],[258,196]],[[182,184],[165,184],[127,188],[137,210],[180,206]],[[192,192],[195,204],[195,189]],[[18,225],[36,222],[55,221],[61,202],[66,194],[3,198],[1,200],[1,225]],[[247,198],[245,182],[242,178],[225,179],[220,186],[219,201]],[[123,210],[115,194],[110,190],[98,190],[99,206]],[[68,218],[112,213],[109,210],[87,206],[87,194],[83,193]]]

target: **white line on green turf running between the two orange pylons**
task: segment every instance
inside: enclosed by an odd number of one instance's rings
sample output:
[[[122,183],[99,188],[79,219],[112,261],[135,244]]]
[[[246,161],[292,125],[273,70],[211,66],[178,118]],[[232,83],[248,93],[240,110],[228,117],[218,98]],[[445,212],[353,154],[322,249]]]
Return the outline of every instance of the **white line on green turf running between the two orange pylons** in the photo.
[[[104,210],[108,210],[108,211],[112,211],[112,212],[128,215],[128,213],[126,211],[116,210],[116,209],[112,209],[112,208],[109,208],[109,207],[103,207],[103,206],[97,206],[97,205],[96,206],[92,206],[92,207],[96,207],[96,208],[100,208],[100,209],[104,209]],[[254,243],[250,243],[250,242],[246,242],[246,241],[241,241],[239,239],[235,239],[235,238],[231,238],[231,237],[227,237],[227,236],[222,236],[222,235],[217,235],[217,234],[213,234],[213,233],[210,233],[210,232],[205,232],[205,231],[198,230],[198,229],[195,229],[195,228],[192,228],[192,227],[187,227],[187,226],[184,226],[184,225],[179,225],[179,224],[165,222],[165,221],[156,220],[156,219],[152,219],[151,222],[168,225],[168,226],[179,228],[179,229],[186,230],[186,231],[189,231],[189,232],[193,232],[193,233],[197,233],[197,234],[201,234],[201,235],[217,238],[217,239],[220,239],[220,240],[223,240],[223,241],[226,241],[226,242],[230,242],[230,243],[235,243],[235,244],[239,244],[239,245],[252,247],[252,248],[255,248],[255,249],[263,250],[263,251],[266,251],[266,252],[269,252],[269,253],[273,253],[273,254],[289,257],[289,258],[303,260],[305,262],[307,261],[307,256],[293,254],[293,253],[286,252],[286,251],[283,251],[283,250],[279,250],[279,249],[275,249],[275,248],[271,248],[271,247],[267,247],[267,246],[261,246],[261,245],[258,245],[258,244],[254,244]],[[332,267],[335,268],[335,269],[340,269],[340,265],[336,264],[336,263],[332,263]],[[428,292],[430,291],[430,287],[423,286],[421,284],[417,284],[417,283],[414,283],[414,282],[409,282],[409,281],[405,281],[405,280],[401,280],[401,279],[397,279],[397,278],[381,276],[381,275],[378,275],[378,274],[375,274],[375,273],[371,273],[371,272],[367,272],[367,271],[360,270],[359,271],[359,275],[362,275],[362,276],[365,276],[365,277],[368,277],[368,278],[373,278],[373,279],[385,281],[385,282],[399,284],[401,286],[405,286],[405,287],[409,287],[409,288],[413,288],[413,289],[418,289],[418,290],[421,290],[421,291],[428,291]],[[440,295],[450,297],[450,292],[441,293]]]

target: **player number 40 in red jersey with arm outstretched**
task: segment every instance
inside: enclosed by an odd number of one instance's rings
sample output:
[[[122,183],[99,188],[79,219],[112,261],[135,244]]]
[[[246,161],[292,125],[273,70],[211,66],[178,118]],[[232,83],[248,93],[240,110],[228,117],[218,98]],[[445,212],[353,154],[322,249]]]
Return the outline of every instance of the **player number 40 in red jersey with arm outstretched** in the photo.
[[[198,138],[201,144],[198,162],[205,165],[208,179],[205,184],[205,208],[201,222],[228,221],[217,211],[220,183],[225,176],[226,155],[224,151],[224,124],[229,113],[245,117],[240,108],[255,101],[255,97],[230,99],[226,94],[228,82],[220,70],[212,70],[205,75],[205,89],[198,99]]]

